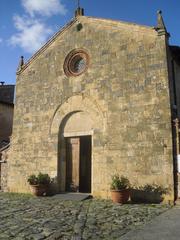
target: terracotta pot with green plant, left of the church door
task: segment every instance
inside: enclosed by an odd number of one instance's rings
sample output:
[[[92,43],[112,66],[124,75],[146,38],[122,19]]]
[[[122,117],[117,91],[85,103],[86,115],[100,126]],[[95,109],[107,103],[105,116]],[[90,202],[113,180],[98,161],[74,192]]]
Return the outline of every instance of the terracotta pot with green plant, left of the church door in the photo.
[[[28,183],[32,187],[35,196],[47,195],[51,178],[46,173],[39,173],[37,176],[32,174],[28,177]]]

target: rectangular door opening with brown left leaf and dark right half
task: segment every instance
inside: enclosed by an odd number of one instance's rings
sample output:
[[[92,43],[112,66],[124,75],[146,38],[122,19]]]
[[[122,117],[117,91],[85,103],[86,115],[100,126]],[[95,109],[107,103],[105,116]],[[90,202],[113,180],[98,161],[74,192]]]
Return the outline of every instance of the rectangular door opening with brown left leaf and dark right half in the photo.
[[[91,193],[91,136],[66,138],[66,191]]]

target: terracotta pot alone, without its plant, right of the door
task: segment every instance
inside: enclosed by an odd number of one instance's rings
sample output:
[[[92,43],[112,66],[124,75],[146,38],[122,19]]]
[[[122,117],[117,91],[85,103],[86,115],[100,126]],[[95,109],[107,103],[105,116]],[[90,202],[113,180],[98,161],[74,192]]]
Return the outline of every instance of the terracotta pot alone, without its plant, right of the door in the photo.
[[[114,203],[127,203],[130,195],[129,189],[111,190],[111,197]]]

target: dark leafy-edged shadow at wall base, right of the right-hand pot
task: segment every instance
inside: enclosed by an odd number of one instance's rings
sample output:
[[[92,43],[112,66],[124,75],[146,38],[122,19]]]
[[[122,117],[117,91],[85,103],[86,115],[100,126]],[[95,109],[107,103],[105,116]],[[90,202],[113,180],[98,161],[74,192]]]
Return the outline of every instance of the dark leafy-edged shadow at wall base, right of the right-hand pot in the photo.
[[[135,187],[131,189],[131,201],[135,203],[161,203],[163,201],[163,194],[168,192],[157,184],[146,184],[144,186]]]

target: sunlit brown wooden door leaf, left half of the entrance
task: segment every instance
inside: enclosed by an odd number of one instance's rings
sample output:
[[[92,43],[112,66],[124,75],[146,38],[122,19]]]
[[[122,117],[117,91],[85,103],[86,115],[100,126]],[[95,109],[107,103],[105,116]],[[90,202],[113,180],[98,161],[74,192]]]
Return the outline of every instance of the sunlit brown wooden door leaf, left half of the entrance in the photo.
[[[79,191],[80,138],[66,139],[66,191]]]

